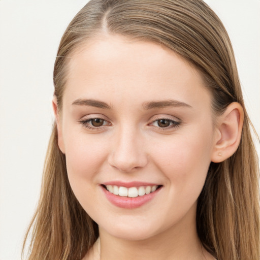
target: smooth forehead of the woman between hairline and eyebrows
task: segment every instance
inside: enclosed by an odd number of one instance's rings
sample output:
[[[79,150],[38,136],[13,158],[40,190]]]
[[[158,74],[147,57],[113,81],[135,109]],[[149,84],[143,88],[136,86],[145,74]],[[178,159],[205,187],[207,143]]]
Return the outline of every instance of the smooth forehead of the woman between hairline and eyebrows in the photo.
[[[106,99],[136,104],[175,99],[210,102],[198,70],[168,48],[122,36],[104,36],[82,44],[68,64],[64,99]]]

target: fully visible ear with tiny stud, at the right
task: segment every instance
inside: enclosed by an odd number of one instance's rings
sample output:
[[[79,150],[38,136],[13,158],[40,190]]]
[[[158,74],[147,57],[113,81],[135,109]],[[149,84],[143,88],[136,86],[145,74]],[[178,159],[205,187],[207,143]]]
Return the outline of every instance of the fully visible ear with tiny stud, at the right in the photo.
[[[216,139],[211,156],[213,163],[220,163],[235,153],[240,143],[243,121],[244,110],[237,102],[231,103],[217,118]]]

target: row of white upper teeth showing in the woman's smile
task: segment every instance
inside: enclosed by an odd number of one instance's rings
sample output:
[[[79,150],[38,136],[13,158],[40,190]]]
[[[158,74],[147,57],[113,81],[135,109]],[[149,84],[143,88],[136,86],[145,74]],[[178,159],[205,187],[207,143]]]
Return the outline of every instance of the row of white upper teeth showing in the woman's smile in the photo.
[[[157,189],[157,185],[153,186],[140,186],[140,187],[130,187],[126,188],[123,186],[116,185],[106,185],[106,188],[109,192],[119,195],[121,197],[129,197],[136,198],[138,196],[144,196],[145,194],[149,194]]]

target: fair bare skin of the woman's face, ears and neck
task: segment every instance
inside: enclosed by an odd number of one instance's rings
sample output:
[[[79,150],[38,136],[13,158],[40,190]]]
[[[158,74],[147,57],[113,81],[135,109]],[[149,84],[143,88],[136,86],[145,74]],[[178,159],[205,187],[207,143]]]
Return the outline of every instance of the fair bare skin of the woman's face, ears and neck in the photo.
[[[89,99],[110,109],[79,104]],[[179,103],[144,108],[169,100]],[[183,58],[154,43],[104,35],[73,53],[62,110],[55,98],[53,107],[71,187],[99,224],[100,239],[84,259],[214,259],[197,236],[197,199],[210,162],[239,144],[239,104],[214,127],[211,94]],[[104,124],[89,129],[91,118]],[[164,118],[169,127],[159,126]],[[163,187],[145,205],[123,209],[104,196],[107,181]]]

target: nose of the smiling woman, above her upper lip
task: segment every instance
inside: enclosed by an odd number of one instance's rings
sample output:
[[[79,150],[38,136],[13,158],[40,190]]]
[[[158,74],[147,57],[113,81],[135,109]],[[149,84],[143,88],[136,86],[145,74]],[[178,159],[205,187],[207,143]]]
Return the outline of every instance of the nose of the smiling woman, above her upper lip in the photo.
[[[144,138],[137,129],[123,129],[113,138],[108,163],[117,170],[131,173],[148,163]]]

